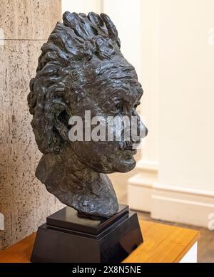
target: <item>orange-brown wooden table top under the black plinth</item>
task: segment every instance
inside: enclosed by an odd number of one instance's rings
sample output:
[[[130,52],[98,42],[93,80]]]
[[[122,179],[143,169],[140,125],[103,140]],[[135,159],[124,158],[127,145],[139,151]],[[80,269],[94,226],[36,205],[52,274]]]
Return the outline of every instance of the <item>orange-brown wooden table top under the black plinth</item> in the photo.
[[[192,229],[140,220],[144,242],[123,262],[173,263],[179,262],[198,241],[200,233]],[[0,251],[0,263],[29,263],[36,233]]]

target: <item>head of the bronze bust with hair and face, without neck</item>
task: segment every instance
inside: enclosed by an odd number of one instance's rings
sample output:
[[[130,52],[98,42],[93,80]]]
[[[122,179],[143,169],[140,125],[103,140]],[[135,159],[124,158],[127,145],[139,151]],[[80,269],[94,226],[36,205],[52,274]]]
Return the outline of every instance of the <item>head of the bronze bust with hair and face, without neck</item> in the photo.
[[[72,127],[69,118],[78,115],[84,120],[85,110],[91,111],[91,117],[106,118],[106,122],[108,116],[138,116],[136,107],[143,90],[135,69],[120,51],[111,19],[106,14],[66,12],[41,51],[28,97],[39,150],[60,155],[61,148],[67,147],[96,172],[133,169],[133,140],[71,142],[68,137]],[[138,129],[146,135],[139,118]],[[110,130],[117,131],[121,129]]]

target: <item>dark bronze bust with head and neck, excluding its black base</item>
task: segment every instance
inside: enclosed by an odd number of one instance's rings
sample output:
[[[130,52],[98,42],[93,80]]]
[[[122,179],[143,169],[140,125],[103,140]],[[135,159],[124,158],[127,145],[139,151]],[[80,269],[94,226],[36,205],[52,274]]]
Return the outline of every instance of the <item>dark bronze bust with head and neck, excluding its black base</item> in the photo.
[[[143,90],[120,46],[116,27],[106,14],[66,11],[63,23],[56,24],[41,47],[36,77],[30,83],[31,125],[44,154],[36,177],[61,202],[91,216],[116,214],[118,201],[106,173],[133,169],[133,144],[147,134],[136,113]],[[136,116],[143,135],[138,141],[71,141],[74,126],[69,119],[76,115],[84,121],[86,110],[104,121],[108,116]],[[113,135],[118,131],[117,126],[110,129]]]

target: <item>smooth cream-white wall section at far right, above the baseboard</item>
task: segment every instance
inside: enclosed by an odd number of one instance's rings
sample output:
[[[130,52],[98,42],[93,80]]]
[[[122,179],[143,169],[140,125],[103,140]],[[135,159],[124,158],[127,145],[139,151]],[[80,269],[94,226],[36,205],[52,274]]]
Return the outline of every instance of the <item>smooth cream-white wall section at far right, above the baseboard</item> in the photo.
[[[161,0],[159,182],[214,189],[213,0]]]

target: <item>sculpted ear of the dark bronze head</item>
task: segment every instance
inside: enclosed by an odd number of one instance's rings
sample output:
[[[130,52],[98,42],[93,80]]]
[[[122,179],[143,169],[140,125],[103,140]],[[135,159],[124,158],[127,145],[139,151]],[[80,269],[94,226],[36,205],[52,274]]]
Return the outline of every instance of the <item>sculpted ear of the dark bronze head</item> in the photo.
[[[71,112],[66,103],[63,103],[61,100],[52,100],[49,105],[47,116],[52,122],[53,128],[57,130],[58,135],[60,135],[63,140],[69,140],[68,120],[71,117]]]

